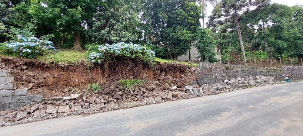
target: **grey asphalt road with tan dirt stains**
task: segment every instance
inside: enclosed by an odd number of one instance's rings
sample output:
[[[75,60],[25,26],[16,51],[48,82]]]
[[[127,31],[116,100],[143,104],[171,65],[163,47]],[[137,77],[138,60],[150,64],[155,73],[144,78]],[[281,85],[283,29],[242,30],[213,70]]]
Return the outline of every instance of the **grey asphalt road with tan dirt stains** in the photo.
[[[0,135],[303,135],[303,82],[2,127]]]

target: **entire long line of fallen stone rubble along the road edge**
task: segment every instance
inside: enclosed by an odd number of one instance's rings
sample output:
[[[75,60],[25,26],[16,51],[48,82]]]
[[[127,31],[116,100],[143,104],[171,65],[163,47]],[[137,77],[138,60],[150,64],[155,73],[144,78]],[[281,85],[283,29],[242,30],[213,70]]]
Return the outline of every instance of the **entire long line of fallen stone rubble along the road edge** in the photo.
[[[163,82],[162,82],[163,83]],[[269,76],[245,76],[231,78],[221,83],[212,85],[204,84],[201,87],[194,86],[172,86],[156,83],[148,87],[135,87],[134,89],[117,90],[107,94],[90,94],[86,99],[80,96],[76,100],[52,99],[42,102],[33,102],[16,110],[8,109],[0,112],[0,126],[37,121],[68,115],[91,114],[105,112],[120,108],[131,108],[178,99],[187,99],[196,96],[211,95],[212,93],[231,91],[245,86],[261,86],[279,83]],[[16,122],[14,122],[16,121]],[[12,123],[14,122],[14,123]]]

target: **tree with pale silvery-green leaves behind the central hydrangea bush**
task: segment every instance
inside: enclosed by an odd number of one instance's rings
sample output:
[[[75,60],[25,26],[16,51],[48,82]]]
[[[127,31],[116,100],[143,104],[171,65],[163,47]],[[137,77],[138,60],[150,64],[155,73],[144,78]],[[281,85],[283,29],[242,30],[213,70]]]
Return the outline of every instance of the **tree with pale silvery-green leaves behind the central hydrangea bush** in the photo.
[[[133,42],[138,40],[136,29],[141,3],[136,0],[105,1],[107,8],[98,10],[92,27],[92,36],[99,44]],[[127,4],[132,3],[132,4]]]

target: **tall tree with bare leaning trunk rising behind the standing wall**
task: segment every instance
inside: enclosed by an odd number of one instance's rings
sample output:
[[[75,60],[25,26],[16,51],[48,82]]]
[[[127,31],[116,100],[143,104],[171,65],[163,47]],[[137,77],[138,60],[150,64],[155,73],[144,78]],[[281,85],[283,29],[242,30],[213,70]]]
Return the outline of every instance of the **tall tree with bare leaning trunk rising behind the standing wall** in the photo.
[[[252,2],[250,0],[222,0],[219,3],[219,6],[212,11],[213,15],[210,17],[210,24],[224,24],[228,22],[235,24],[240,42],[243,64],[245,66],[247,66],[247,63],[239,21],[241,20],[241,17],[249,11],[251,6]]]

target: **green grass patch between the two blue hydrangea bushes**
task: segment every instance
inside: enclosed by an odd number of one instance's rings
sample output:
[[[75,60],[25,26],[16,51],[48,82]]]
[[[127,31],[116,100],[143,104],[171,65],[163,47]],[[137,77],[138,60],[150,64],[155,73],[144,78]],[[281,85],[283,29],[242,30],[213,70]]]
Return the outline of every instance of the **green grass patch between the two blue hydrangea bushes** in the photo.
[[[85,51],[56,51],[51,53],[46,53],[45,56],[37,56],[37,60],[43,60],[47,62],[54,61],[55,63],[67,63],[67,64],[76,64],[79,62],[87,61],[85,56]]]

